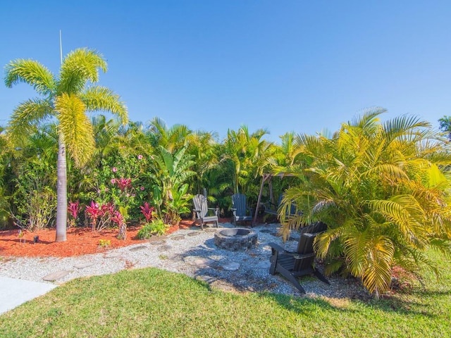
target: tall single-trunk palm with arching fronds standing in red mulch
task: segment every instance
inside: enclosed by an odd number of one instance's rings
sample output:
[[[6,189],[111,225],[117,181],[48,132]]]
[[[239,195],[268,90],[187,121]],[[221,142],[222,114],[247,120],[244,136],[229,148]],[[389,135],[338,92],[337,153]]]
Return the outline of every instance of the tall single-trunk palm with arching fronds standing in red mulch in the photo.
[[[106,61],[97,51],[76,49],[64,59],[59,76],[37,61],[18,59],[6,65],[5,84],[25,82],[39,94],[16,107],[8,125],[16,141],[30,134],[48,119],[58,122],[56,242],[66,241],[67,173],[66,146],[75,164],[82,166],[95,149],[92,123],[87,112],[108,111],[128,120],[127,108],[111,89],[95,83],[99,70],[106,72]],[[87,84],[90,84],[89,87]]]

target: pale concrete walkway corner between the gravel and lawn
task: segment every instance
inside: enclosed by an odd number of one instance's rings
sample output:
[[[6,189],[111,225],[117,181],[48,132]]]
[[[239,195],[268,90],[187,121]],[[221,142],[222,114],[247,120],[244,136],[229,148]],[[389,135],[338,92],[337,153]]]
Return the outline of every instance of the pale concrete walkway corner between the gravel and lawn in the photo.
[[[42,296],[55,287],[56,285],[49,283],[0,277],[0,314],[12,310],[25,301]]]

